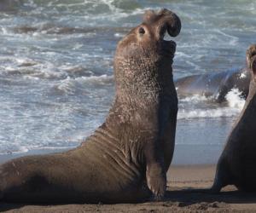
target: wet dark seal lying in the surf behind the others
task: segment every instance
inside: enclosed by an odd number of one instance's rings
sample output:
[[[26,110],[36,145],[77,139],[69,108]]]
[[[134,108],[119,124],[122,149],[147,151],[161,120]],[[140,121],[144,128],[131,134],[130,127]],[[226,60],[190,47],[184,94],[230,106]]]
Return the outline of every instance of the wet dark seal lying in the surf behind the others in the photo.
[[[213,96],[214,101],[221,103],[226,101],[225,96],[231,89],[238,89],[241,98],[246,99],[250,77],[247,68],[242,68],[178,78],[174,83],[177,95]]]

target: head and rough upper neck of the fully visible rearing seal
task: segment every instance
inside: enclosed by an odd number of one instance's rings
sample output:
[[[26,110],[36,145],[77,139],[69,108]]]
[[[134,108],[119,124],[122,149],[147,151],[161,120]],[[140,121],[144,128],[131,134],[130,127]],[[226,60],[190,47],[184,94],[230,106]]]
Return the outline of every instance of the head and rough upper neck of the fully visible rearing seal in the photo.
[[[164,37],[166,32],[176,37],[180,30],[181,21],[172,11],[146,11],[143,23],[133,28],[118,44],[114,60],[117,90],[127,88],[130,92],[134,89],[136,93],[145,93],[167,85],[168,80],[162,79],[172,80],[176,43],[166,41]]]

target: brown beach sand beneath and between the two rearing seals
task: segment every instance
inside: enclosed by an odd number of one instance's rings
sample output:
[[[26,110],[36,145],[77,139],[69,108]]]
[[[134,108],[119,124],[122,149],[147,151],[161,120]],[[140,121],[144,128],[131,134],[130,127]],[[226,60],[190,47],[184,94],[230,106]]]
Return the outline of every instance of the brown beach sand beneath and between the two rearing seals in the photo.
[[[256,212],[256,193],[225,187],[219,194],[191,193],[189,188],[210,187],[214,165],[172,166],[164,202],[143,204],[0,204],[1,212]]]

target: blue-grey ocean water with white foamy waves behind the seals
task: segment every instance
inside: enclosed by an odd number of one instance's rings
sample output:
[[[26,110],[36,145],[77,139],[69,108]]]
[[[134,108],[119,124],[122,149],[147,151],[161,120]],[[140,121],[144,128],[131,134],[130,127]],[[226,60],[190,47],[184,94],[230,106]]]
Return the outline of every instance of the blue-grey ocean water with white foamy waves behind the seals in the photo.
[[[207,0],[2,0],[0,154],[73,148],[102,124],[113,101],[113,54],[145,9],[172,9],[174,78],[245,66],[256,3]],[[179,97],[174,164],[216,163],[244,101]],[[46,151],[47,152],[47,151]]]

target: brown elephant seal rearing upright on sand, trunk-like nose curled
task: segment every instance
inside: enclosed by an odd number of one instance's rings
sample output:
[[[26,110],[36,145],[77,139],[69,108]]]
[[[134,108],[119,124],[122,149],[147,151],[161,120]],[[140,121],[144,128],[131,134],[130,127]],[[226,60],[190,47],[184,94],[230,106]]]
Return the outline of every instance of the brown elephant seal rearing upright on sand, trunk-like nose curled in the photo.
[[[115,98],[105,122],[80,147],[16,158],[0,166],[1,200],[23,203],[126,203],[162,199],[172,161],[177,93],[172,78],[181,22],[148,10],[119,43]]]

